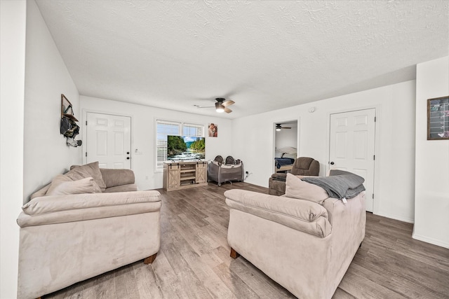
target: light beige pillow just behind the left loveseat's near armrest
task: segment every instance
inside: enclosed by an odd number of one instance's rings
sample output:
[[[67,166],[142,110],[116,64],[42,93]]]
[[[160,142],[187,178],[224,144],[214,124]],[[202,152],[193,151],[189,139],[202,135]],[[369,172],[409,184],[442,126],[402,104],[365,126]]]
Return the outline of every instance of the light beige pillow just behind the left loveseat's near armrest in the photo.
[[[77,181],[72,181],[68,176],[59,174],[51,181],[46,195],[69,195],[82,193],[101,193],[100,187],[88,177]]]

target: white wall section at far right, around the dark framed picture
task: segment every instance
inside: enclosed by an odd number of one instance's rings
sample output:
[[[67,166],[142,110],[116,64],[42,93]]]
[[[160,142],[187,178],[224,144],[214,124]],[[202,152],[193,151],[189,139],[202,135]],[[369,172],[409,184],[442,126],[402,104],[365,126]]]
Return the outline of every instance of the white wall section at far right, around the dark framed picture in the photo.
[[[417,64],[413,237],[449,248],[449,140],[427,140],[427,99],[449,95],[449,57]]]

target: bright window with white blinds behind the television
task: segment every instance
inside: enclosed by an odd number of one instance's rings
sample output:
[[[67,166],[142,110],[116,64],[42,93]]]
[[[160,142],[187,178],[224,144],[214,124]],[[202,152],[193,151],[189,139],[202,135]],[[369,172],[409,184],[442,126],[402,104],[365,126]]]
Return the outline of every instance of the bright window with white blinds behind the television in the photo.
[[[156,172],[163,169],[167,160],[167,136],[204,136],[204,126],[190,123],[177,123],[168,120],[156,120]]]

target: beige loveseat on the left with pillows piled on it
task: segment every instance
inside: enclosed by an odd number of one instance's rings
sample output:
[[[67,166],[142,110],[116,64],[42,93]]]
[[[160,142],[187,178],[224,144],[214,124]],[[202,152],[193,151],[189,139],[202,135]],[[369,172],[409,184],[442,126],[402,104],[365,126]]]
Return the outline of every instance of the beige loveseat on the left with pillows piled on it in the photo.
[[[129,169],[92,163],[56,176],[18,217],[18,298],[39,298],[144,258],[152,263],[160,209],[160,193],[137,191]]]

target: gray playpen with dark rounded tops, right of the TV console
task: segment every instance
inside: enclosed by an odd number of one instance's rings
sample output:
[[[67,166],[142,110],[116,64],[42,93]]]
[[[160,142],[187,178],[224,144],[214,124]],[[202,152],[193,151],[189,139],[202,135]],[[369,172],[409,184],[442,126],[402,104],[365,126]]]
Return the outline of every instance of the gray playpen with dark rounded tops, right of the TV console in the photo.
[[[227,181],[243,181],[245,171],[241,160],[234,160],[228,155],[223,160],[221,155],[208,164],[208,181],[216,181],[218,186]]]

